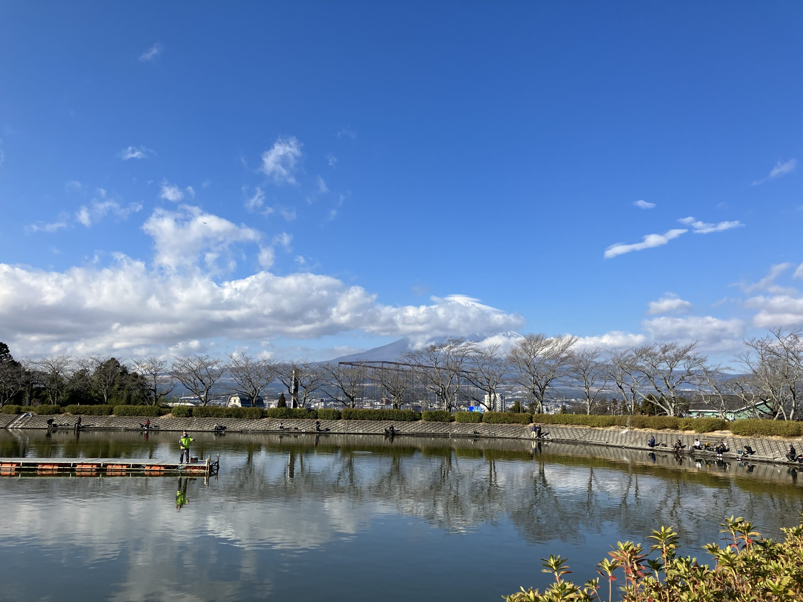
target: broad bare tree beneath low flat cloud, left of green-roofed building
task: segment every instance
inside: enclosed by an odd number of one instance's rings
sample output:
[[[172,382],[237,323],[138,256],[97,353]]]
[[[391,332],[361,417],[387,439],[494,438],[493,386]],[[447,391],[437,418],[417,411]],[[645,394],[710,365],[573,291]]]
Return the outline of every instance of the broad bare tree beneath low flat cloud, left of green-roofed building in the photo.
[[[683,384],[695,384],[707,358],[696,349],[698,342],[656,343],[642,348],[639,354],[640,372],[654,389],[653,403],[667,416],[679,415],[681,400],[678,389]]]

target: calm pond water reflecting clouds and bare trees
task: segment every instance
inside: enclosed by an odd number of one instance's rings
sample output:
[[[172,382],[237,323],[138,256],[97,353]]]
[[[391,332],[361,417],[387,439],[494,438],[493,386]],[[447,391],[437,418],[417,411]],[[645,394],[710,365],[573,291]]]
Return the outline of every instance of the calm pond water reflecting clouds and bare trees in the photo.
[[[529,441],[196,434],[218,477],[0,478],[0,600],[500,600],[617,539],[724,517],[765,535],[797,471]],[[178,458],[178,433],[0,431],[0,457]],[[801,475],[803,483],[803,475]],[[177,507],[177,490],[186,503]]]

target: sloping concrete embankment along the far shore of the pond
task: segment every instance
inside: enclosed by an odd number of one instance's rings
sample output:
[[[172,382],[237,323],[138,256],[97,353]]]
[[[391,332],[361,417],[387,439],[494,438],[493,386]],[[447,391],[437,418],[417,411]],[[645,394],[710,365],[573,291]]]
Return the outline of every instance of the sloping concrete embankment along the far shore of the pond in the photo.
[[[6,429],[47,429],[47,419],[51,416],[23,417],[0,414],[0,428]],[[61,414],[52,416],[59,425],[67,428],[75,424],[77,417]],[[145,417],[123,416],[85,416],[82,418],[84,429],[103,430],[129,430],[140,429]],[[312,420],[263,418],[259,420],[243,420],[238,418],[174,418],[171,416],[151,418],[151,425],[162,431],[212,431],[214,425],[224,425],[229,432],[241,433],[314,433],[315,425]],[[279,429],[281,423],[284,429]],[[324,433],[332,434],[365,434],[382,435],[389,425],[399,435],[419,435],[426,437],[499,437],[509,439],[530,439],[528,425],[487,425],[465,424],[460,422],[391,422],[391,421],[347,421],[334,420],[320,421],[320,428]],[[718,441],[725,441],[732,454],[725,454],[725,458],[737,458],[736,450],[744,449],[746,445],[756,450],[751,461],[756,462],[785,462],[785,454],[789,443],[793,443],[798,450],[801,449],[801,439],[781,439],[768,437],[736,437],[729,432],[718,433],[681,433],[679,431],[650,431],[622,428],[597,429],[588,426],[544,425],[544,432],[548,433],[546,441],[561,443],[577,443],[584,445],[605,445],[626,449],[649,449],[646,441],[655,437],[658,442],[656,451],[671,450],[677,439],[680,439],[687,449],[699,437],[701,441],[709,441],[713,445]],[[661,445],[663,444],[663,445]]]

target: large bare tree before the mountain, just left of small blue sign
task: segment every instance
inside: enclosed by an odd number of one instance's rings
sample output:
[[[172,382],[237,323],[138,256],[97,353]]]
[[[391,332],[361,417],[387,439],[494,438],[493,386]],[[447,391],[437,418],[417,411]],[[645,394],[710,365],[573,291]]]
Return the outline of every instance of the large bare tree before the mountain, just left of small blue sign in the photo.
[[[404,354],[414,376],[430,393],[434,393],[441,409],[451,411],[457,402],[460,378],[474,350],[473,343],[448,337]]]

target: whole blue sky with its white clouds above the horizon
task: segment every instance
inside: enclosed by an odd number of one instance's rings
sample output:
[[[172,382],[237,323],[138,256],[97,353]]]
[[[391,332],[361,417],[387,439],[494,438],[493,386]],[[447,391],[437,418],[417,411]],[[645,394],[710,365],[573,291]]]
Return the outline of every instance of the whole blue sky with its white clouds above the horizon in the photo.
[[[320,359],[516,329],[730,352],[803,325],[801,18],[3,3],[0,340]]]

